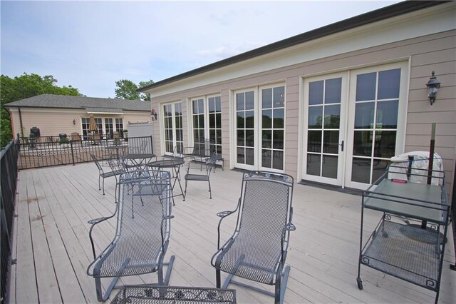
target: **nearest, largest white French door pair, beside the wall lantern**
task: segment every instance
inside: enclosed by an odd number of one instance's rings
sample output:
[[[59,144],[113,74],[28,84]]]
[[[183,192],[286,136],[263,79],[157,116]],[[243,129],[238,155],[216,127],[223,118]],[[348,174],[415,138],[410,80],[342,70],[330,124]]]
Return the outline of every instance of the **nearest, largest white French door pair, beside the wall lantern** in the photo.
[[[304,80],[302,176],[367,188],[403,152],[408,65],[388,64]]]

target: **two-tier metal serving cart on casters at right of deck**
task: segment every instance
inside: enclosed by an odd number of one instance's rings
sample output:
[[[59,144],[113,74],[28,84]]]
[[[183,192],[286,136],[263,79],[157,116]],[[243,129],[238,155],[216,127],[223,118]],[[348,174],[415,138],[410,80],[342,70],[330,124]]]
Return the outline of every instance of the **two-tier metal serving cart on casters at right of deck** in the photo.
[[[432,171],[433,184],[427,184],[410,181],[410,173],[388,179],[388,173],[398,174],[392,168],[397,167],[390,166],[363,192],[358,288],[363,289],[361,265],[366,265],[435,291],[437,303],[450,213],[443,172]],[[427,176],[427,170],[418,170],[411,175]],[[363,246],[365,208],[383,216]]]

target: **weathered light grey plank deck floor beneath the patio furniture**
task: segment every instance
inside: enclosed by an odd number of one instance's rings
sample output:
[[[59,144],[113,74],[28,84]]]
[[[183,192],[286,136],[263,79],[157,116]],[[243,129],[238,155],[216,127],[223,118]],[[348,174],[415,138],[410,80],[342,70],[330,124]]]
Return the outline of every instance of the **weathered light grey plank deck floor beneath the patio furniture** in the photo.
[[[10,302],[97,303],[94,280],[86,274],[92,260],[87,221],[113,213],[115,180],[106,179],[103,196],[93,163],[21,171],[19,178],[13,252],[17,264],[12,266]],[[241,181],[242,173],[217,169],[211,175],[212,200],[207,184],[195,182],[185,202],[176,198],[167,253],[167,258],[176,256],[170,285],[215,285],[210,258],[217,250],[216,213],[234,210]],[[286,303],[434,302],[434,292],[366,267],[361,268],[364,289],[358,289],[360,196],[296,184],[293,203],[296,231],[286,260],[291,265]],[[368,235],[380,214],[368,211],[365,216]],[[230,221],[223,226],[224,239],[232,232]],[[97,230],[98,250],[113,235],[112,225]],[[448,239],[439,303],[456,301],[456,272],[449,268],[455,262],[451,234]],[[157,278],[142,275],[122,281],[154,283]],[[274,302],[252,290],[230,288],[237,289],[238,303]]]

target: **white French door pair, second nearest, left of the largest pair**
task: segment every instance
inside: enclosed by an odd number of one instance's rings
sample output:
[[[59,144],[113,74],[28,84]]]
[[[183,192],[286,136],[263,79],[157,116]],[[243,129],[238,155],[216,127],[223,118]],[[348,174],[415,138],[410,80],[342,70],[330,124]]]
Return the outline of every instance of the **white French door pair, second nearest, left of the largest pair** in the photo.
[[[285,86],[234,92],[235,166],[284,171]]]

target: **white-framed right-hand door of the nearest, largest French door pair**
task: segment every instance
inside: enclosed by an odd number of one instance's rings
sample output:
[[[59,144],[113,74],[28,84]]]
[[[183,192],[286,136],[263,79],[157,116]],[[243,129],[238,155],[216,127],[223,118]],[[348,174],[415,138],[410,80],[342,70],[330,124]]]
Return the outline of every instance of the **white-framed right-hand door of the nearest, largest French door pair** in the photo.
[[[346,186],[366,188],[402,153],[406,64],[355,71],[351,76],[349,151]]]

